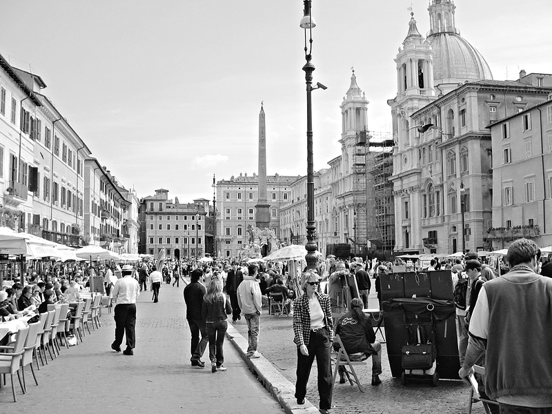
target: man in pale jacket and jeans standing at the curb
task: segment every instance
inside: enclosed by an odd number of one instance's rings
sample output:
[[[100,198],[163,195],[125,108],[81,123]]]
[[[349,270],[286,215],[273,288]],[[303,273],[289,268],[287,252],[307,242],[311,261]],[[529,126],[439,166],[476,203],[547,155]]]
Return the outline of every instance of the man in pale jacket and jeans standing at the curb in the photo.
[[[248,328],[248,358],[258,358],[261,356],[257,352],[262,313],[261,288],[259,287],[259,282],[257,282],[258,271],[259,266],[250,264],[248,266],[249,275],[244,277],[244,281],[237,288],[237,302],[246,317]]]

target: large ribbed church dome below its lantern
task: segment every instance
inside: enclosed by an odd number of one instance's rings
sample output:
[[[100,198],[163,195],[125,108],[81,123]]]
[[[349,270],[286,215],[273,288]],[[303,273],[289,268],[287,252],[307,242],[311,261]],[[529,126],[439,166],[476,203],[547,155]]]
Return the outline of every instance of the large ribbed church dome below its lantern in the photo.
[[[491,68],[469,41],[455,32],[437,32],[426,39],[433,56],[433,79],[439,83],[493,79]]]

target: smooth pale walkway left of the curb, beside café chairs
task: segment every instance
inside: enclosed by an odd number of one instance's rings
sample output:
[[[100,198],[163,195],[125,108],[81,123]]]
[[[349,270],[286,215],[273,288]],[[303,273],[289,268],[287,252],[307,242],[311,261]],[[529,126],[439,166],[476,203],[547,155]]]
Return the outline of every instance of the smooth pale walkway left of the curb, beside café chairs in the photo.
[[[282,413],[230,342],[224,344],[228,371],[190,366],[183,290],[164,284],[157,304],[142,292],[132,357],[111,351],[115,322],[104,310],[99,331],[87,332],[82,344],[63,348],[61,357],[35,369],[39,386],[27,367],[23,395],[15,376],[17,403],[8,376],[0,413]]]

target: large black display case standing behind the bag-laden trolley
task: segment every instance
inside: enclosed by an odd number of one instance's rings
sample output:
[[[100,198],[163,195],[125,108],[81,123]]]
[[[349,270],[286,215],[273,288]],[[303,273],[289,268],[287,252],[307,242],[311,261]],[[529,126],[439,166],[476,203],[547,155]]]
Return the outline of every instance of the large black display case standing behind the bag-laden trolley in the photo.
[[[393,377],[400,377],[403,371],[401,348],[408,342],[406,319],[413,313],[427,318],[429,313],[424,311],[424,308],[429,305],[430,308],[436,306],[440,316],[435,317],[437,310],[433,311],[433,319],[436,322],[433,324],[433,333],[431,333],[431,326],[426,326],[422,328],[425,331],[422,335],[434,337],[437,348],[437,373],[440,378],[460,380],[458,377],[460,359],[458,357],[455,308],[451,302],[453,282],[450,270],[427,273],[388,273],[380,276],[380,284],[387,355]],[[408,301],[393,299],[408,299]],[[446,317],[442,318],[443,315]]]

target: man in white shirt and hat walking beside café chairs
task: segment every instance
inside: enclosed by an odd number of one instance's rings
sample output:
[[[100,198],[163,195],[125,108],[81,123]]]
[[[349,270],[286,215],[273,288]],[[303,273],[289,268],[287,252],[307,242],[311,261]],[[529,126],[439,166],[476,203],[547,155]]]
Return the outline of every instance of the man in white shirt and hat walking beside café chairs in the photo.
[[[136,345],[136,299],[139,297],[139,286],[132,277],[132,266],[123,266],[123,277],[117,279],[113,287],[113,303],[115,304],[115,341],[111,344],[113,351],[121,352],[123,336],[126,335],[124,355],[134,355]]]

